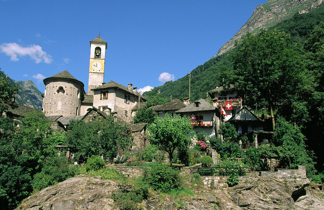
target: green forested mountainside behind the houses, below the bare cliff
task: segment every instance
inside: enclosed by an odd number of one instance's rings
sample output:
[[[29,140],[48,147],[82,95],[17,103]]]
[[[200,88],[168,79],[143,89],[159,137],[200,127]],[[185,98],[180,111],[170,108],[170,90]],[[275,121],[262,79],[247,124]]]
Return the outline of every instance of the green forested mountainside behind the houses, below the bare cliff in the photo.
[[[296,13],[292,18],[284,20],[273,26],[270,30],[279,29],[291,35],[292,41],[299,46],[303,45],[309,37],[314,26],[320,21],[324,21],[324,5],[312,10],[309,13]],[[232,69],[233,64],[230,55],[235,51],[228,51],[226,54],[218,55],[203,65],[197,66],[191,71],[191,101],[206,98],[206,92],[215,88],[219,83],[218,75],[220,70]],[[182,99],[189,96],[189,74],[176,80],[166,82],[164,85],[154,87],[145,95],[151,96],[159,94],[160,97],[170,100],[172,98]]]

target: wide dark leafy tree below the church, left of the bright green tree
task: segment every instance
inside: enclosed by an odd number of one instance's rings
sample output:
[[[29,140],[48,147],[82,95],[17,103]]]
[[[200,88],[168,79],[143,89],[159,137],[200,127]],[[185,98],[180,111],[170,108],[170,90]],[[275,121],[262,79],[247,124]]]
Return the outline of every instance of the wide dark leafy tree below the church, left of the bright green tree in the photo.
[[[70,146],[77,148],[78,154],[82,156],[114,157],[118,147],[125,149],[132,144],[130,134],[125,135],[127,127],[114,122],[111,116],[91,122],[70,121],[70,128],[66,134],[66,141]]]

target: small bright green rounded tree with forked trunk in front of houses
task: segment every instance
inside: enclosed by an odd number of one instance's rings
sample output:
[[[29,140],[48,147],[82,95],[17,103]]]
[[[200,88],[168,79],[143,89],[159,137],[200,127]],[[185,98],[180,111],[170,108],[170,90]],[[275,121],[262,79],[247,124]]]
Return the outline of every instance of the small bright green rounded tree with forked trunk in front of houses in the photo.
[[[191,144],[194,135],[189,118],[166,114],[164,118],[156,117],[148,126],[151,144],[159,146],[169,154],[172,165],[173,152],[176,148],[185,149]]]

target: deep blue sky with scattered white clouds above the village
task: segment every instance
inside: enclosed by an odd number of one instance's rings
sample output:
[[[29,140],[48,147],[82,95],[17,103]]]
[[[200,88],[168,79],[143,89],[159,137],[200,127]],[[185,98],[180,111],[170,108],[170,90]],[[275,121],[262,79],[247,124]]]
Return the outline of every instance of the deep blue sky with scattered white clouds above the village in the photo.
[[[67,70],[87,92],[89,41],[100,31],[104,82],[157,87],[217,54],[266,2],[0,0],[0,68],[41,92],[43,78]]]

